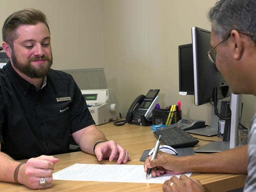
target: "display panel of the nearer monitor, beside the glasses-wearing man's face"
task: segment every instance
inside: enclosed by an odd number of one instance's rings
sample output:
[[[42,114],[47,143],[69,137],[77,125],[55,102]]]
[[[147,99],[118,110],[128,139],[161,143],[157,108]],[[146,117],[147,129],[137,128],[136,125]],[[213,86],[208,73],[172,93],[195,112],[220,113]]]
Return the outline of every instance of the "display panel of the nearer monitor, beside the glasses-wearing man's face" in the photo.
[[[211,50],[210,39],[210,31],[192,28],[195,105],[211,102],[213,92],[218,93],[218,99],[230,95],[225,79],[206,55]]]

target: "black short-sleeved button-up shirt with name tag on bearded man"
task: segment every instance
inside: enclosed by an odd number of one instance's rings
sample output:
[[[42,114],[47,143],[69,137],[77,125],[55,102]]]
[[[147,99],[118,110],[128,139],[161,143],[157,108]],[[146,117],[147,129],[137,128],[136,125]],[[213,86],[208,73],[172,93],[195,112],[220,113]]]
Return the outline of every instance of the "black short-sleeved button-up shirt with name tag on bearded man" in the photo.
[[[46,80],[36,91],[10,62],[0,69],[1,151],[14,159],[67,153],[70,134],[95,124],[71,75],[50,69]]]

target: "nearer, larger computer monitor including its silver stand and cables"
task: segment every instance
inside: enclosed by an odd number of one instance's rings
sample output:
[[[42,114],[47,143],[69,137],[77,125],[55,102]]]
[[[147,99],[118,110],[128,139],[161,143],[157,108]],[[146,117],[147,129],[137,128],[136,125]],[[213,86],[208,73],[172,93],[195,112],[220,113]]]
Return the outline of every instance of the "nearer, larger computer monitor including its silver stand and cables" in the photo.
[[[211,63],[206,53],[211,49],[210,47],[210,31],[193,27],[192,28],[192,47],[193,47],[193,66],[194,66],[194,98],[195,105],[202,105],[214,100],[214,113],[212,114],[212,125],[218,124],[216,118],[218,111],[217,100],[228,97],[230,95],[229,87],[219,73],[215,64]],[[231,130],[230,142],[211,142],[202,148],[196,149],[196,152],[218,152],[228,148],[234,148],[238,145],[238,125],[240,119],[241,96],[231,94]],[[228,117],[227,117],[228,118]],[[194,129],[195,132],[204,132],[212,130],[217,133],[217,129],[201,128]],[[195,133],[189,130],[190,133]],[[202,134],[203,135],[203,134]]]

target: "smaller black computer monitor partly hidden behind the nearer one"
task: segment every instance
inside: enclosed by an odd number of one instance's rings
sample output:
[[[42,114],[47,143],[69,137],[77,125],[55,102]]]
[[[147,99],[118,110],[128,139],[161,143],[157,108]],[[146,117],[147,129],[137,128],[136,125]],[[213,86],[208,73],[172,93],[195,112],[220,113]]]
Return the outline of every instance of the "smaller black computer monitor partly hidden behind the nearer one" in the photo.
[[[192,44],[179,46],[179,94],[194,95]]]

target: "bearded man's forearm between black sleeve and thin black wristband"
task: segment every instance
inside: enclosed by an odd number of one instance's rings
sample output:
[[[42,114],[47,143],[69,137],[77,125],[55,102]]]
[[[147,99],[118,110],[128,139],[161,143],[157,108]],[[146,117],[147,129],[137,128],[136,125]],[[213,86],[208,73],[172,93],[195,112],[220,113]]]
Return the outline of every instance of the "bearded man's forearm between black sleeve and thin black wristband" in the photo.
[[[80,131],[82,131],[82,130],[80,130]],[[85,131],[82,132],[81,134],[82,134],[81,139],[79,140],[78,144],[82,151],[90,153],[90,154],[94,154],[93,146],[97,141],[106,141],[107,140],[105,135],[100,130],[98,130],[95,125],[88,126],[85,129]],[[73,137],[74,137],[74,135],[73,135]]]

